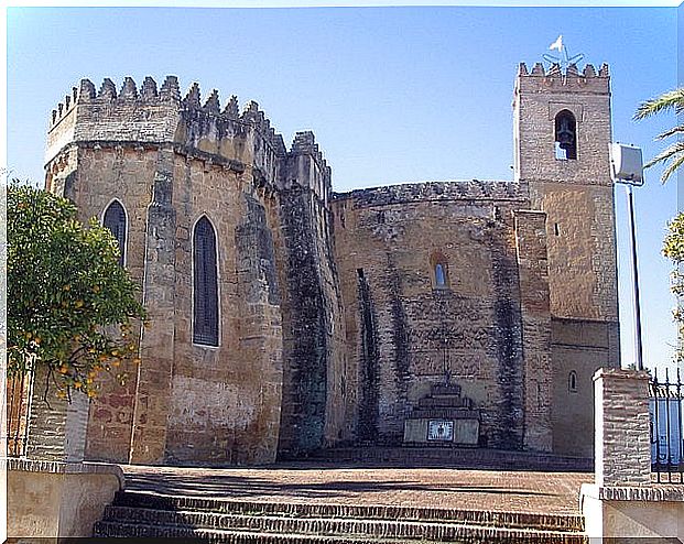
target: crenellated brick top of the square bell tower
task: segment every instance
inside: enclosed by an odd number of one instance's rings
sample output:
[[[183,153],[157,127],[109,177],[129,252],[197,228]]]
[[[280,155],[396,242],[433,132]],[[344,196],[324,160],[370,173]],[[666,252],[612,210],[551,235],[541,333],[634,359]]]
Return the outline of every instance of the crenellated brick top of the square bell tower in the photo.
[[[531,70],[525,63],[520,63],[515,78],[515,93],[563,93],[588,95],[609,95],[610,74],[607,64],[596,70],[593,64],[579,70],[576,64],[567,66],[565,72],[558,64],[545,69],[542,63],[535,63]]]

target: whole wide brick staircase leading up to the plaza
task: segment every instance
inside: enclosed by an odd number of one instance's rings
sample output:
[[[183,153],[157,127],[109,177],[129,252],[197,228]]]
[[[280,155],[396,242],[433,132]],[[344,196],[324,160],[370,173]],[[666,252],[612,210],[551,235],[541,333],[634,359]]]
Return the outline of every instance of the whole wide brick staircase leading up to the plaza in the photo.
[[[585,543],[578,515],[256,502],[120,491],[96,537],[273,544]]]

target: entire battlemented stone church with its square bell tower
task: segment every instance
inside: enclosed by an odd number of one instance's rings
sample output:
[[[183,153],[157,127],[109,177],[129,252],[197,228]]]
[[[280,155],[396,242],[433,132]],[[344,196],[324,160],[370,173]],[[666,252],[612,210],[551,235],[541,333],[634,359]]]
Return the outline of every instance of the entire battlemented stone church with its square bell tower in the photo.
[[[90,404],[86,458],[263,464],[356,445],[591,455],[619,366],[606,65],[519,67],[514,176],[335,193],[177,79],[84,79],[53,111],[47,189],[117,237],[150,316]]]

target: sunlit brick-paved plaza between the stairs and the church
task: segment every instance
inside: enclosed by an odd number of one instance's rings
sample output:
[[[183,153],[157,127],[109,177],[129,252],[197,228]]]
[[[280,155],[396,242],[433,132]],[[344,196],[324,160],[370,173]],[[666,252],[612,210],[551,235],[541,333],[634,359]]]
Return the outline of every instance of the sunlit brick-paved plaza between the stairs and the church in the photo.
[[[453,468],[176,468],[124,465],[127,489],[232,500],[577,514],[591,474]]]

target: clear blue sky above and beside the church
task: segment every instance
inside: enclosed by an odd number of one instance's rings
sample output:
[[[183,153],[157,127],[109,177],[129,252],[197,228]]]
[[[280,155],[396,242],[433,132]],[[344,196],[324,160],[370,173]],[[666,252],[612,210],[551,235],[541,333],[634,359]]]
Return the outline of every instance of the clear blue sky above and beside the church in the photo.
[[[681,10],[681,8],[680,8]],[[677,84],[676,8],[387,7],[8,10],[8,166],[43,179],[50,112],[80,78],[161,84],[177,75],[224,100],[257,100],[285,141],[311,129],[336,191],[421,179],[510,179],[519,62],[563,34],[612,75],[614,139],[652,156],[674,116],[634,123],[640,101]],[[681,57],[680,57],[681,58]],[[203,98],[203,99],[204,99]],[[225,104],[225,102],[224,102]],[[647,366],[672,359],[674,300],[660,254],[676,183],[649,171],[637,194]],[[622,359],[633,361],[626,198],[616,191]]]

